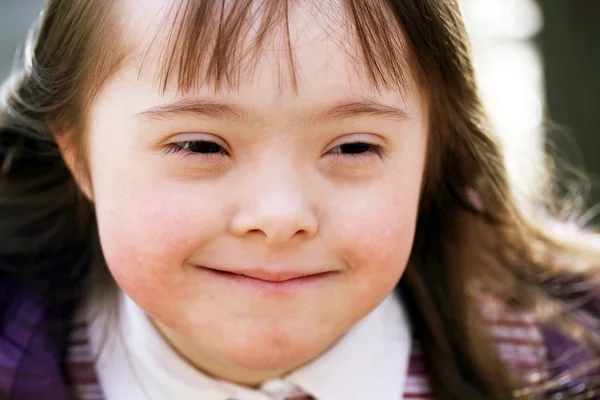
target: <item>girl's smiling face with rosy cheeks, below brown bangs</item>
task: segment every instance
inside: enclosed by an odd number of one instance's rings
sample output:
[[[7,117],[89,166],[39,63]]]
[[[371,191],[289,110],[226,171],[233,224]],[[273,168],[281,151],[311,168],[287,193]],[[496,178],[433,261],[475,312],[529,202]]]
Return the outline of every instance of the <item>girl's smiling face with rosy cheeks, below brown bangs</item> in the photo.
[[[161,3],[126,9],[124,35],[144,43]],[[159,90],[150,57],[90,110],[110,271],[190,362],[241,383],[310,361],[379,305],[415,231],[422,96],[373,89],[311,10],[296,13],[297,92],[282,85],[286,52],[267,49],[235,90],[185,95]]]

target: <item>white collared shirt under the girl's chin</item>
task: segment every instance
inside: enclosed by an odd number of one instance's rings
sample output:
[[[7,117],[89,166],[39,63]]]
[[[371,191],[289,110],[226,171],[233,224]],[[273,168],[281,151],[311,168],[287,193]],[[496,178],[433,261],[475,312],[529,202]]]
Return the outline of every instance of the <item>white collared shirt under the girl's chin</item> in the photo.
[[[106,400],[272,400],[290,383],[318,400],[403,398],[411,349],[406,312],[390,295],[334,346],[282,379],[251,389],[200,373],[165,342],[147,315],[122,295],[118,329],[89,324]]]

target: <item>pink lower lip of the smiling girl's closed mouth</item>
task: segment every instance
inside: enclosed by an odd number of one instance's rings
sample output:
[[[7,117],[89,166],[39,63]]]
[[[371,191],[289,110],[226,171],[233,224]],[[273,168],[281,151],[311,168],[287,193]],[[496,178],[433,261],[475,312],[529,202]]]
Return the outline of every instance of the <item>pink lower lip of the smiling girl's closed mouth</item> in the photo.
[[[286,281],[274,282],[252,278],[246,275],[234,274],[231,272],[218,271],[210,268],[199,267],[199,269],[203,273],[208,273],[211,276],[223,281],[228,281],[236,285],[268,292],[287,292],[310,287],[319,284],[324,280],[330,279],[335,274],[335,272],[324,272],[321,274],[308,275],[300,278],[288,279]]]

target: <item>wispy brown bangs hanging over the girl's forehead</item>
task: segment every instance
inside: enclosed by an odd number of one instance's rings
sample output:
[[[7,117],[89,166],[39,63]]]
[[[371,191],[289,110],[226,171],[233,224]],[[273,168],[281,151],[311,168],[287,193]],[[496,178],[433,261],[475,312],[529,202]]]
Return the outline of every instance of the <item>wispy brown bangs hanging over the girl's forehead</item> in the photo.
[[[309,17],[324,21],[327,37],[346,51],[366,83],[403,92],[416,82],[401,25],[385,0],[176,0],[150,46],[160,45],[148,49],[158,51],[157,84],[184,94],[201,85],[232,89],[255,72],[266,49],[275,48],[285,56],[280,86],[297,92],[292,31],[302,26],[292,20],[307,4]]]

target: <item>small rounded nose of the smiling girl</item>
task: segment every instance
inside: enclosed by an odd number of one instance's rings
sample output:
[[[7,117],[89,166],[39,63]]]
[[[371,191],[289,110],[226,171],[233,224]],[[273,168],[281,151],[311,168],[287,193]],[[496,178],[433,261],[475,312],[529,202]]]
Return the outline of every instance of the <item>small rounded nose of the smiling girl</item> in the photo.
[[[237,236],[262,237],[269,244],[314,236],[318,220],[301,175],[273,166],[247,174],[230,230]]]

